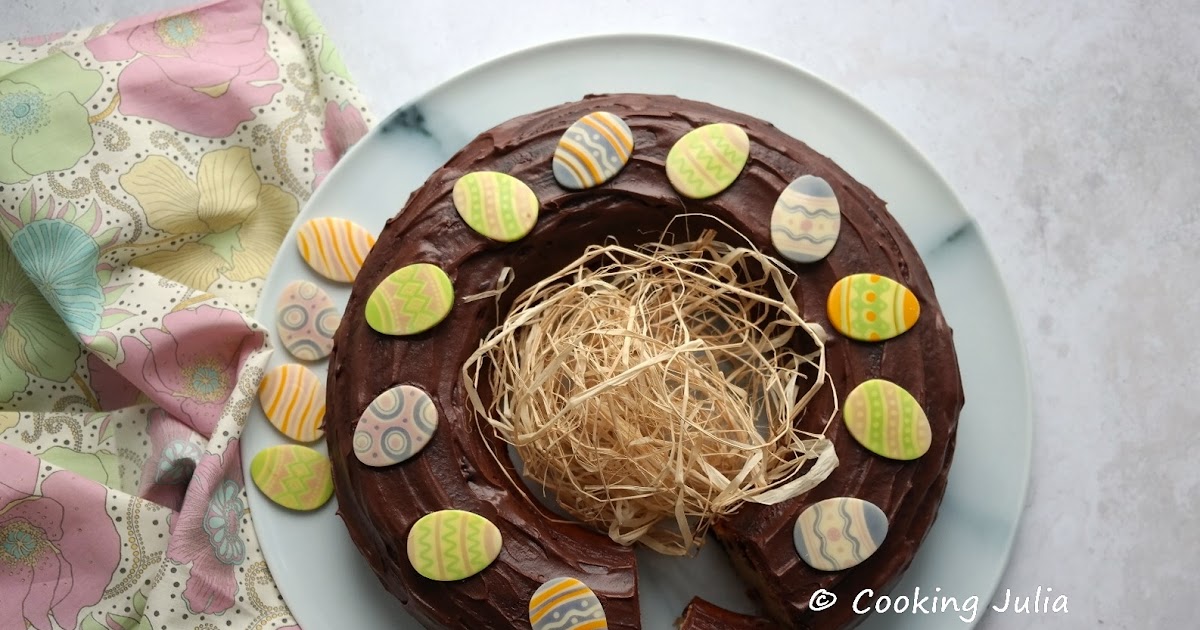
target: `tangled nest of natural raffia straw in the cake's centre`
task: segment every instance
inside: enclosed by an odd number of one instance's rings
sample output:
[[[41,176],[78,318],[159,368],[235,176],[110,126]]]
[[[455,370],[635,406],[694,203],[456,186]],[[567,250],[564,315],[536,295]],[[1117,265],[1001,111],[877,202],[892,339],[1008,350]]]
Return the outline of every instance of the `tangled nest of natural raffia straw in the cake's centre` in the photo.
[[[826,380],[824,331],[785,277],[712,232],[593,246],[516,299],[463,366],[468,396],[568,514],[690,554],[714,517],[796,497],[838,464],[828,419],[796,426]],[[793,350],[796,335],[815,350]]]

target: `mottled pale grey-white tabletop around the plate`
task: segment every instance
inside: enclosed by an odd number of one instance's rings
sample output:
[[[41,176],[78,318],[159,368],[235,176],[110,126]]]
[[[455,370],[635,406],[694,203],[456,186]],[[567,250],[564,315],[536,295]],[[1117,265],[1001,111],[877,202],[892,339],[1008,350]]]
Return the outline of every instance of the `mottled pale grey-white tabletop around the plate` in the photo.
[[[185,4],[0,0],[0,40]],[[980,628],[1195,625],[1194,0],[312,4],[380,115],[496,55],[629,31],[755,48],[866,103],[978,220],[1026,335],[1033,481],[1001,596],[1050,587],[1069,613]]]

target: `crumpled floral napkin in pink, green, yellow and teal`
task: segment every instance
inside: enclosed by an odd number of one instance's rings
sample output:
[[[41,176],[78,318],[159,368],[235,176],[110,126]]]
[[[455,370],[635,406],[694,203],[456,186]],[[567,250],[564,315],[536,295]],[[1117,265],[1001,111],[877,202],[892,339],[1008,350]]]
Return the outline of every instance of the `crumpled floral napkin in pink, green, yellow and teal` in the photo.
[[[0,628],[294,626],[248,313],[370,120],[304,0],[0,43]]]

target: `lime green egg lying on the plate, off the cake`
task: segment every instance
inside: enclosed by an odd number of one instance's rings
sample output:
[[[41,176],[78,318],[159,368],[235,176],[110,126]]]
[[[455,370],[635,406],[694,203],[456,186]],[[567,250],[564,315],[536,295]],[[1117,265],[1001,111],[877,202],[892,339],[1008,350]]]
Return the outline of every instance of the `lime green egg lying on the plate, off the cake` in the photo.
[[[316,510],[334,494],[329,458],[299,444],[280,444],[258,451],[250,476],[266,498],[292,510]]]

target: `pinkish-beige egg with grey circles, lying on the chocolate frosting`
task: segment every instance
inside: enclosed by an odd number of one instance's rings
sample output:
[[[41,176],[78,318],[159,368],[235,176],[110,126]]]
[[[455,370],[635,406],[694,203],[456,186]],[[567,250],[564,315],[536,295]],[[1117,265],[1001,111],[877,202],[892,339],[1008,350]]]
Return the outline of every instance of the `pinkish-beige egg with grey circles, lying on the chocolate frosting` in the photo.
[[[420,388],[397,385],[376,396],[354,428],[354,455],[367,466],[391,466],[420,452],[438,428],[438,410]]]

